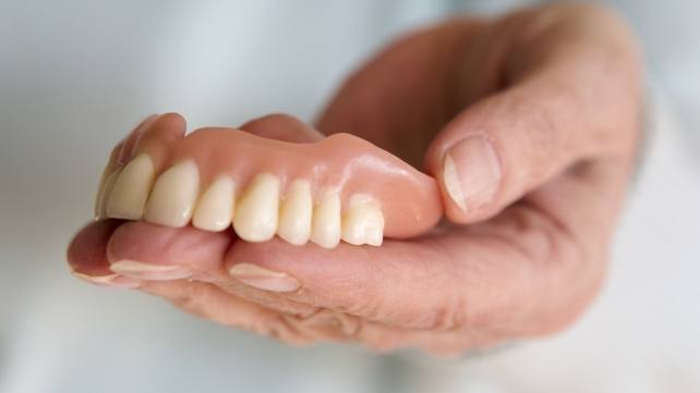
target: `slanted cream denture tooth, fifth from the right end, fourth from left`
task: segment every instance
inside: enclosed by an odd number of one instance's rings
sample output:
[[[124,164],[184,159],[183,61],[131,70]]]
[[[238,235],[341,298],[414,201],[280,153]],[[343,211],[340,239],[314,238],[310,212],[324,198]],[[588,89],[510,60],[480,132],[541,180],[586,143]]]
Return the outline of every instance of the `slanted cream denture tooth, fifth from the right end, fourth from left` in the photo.
[[[192,225],[205,231],[222,231],[231,224],[234,205],[236,184],[231,177],[221,176],[200,197]]]

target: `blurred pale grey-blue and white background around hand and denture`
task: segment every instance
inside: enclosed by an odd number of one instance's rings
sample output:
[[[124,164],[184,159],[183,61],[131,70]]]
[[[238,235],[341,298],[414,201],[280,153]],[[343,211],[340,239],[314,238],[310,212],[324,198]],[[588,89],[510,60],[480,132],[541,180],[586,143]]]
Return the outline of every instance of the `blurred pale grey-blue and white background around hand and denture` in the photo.
[[[696,0],[610,2],[645,45],[653,135],[607,285],[563,334],[452,361],[299,349],[69,274],[107,155],[145,115],[312,121],[397,34],[522,3],[0,1],[0,392],[700,392]]]

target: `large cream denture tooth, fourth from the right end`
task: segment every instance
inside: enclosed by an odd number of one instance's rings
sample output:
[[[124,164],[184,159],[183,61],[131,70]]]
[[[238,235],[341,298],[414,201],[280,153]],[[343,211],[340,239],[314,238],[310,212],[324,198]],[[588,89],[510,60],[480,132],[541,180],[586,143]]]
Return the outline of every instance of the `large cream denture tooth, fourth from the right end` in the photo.
[[[278,209],[279,180],[269,173],[261,173],[238,201],[233,229],[244,241],[269,241],[277,231]]]

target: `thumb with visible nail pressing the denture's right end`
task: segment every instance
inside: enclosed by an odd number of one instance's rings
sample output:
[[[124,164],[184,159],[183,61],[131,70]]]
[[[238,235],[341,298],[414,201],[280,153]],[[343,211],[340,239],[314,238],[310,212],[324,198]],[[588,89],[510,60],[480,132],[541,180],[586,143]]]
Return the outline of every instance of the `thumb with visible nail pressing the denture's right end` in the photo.
[[[608,147],[568,100],[538,95],[492,97],[462,112],[433,140],[425,167],[438,182],[449,220],[486,220]]]

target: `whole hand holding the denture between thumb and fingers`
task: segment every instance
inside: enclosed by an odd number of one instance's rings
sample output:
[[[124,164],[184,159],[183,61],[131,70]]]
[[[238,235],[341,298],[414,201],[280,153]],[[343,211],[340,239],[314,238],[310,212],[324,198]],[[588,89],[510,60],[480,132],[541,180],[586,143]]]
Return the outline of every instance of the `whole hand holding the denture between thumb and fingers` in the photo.
[[[625,24],[595,7],[446,22],[371,60],[318,128],[423,162],[449,222],[412,241],[327,250],[102,221],[76,236],[69,260],[88,280],[118,260],[157,266],[97,281],[292,343],[457,354],[558,331],[605,275],[639,139],[640,69]],[[309,132],[286,116],[249,131]]]

